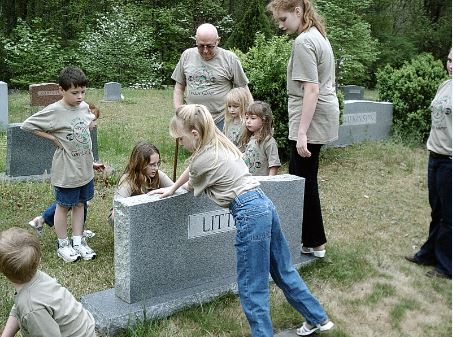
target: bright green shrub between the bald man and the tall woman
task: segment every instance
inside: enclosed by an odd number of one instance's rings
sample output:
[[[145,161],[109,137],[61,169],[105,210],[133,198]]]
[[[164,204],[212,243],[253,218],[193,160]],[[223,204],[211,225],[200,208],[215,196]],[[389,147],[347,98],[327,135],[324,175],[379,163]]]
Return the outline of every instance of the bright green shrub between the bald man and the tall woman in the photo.
[[[250,91],[255,100],[271,105],[274,116],[274,138],[280,157],[288,151],[288,95],[286,92],[286,67],[291,55],[291,43],[285,36],[266,40],[258,33],[255,45],[244,54],[236,51],[250,81]]]

